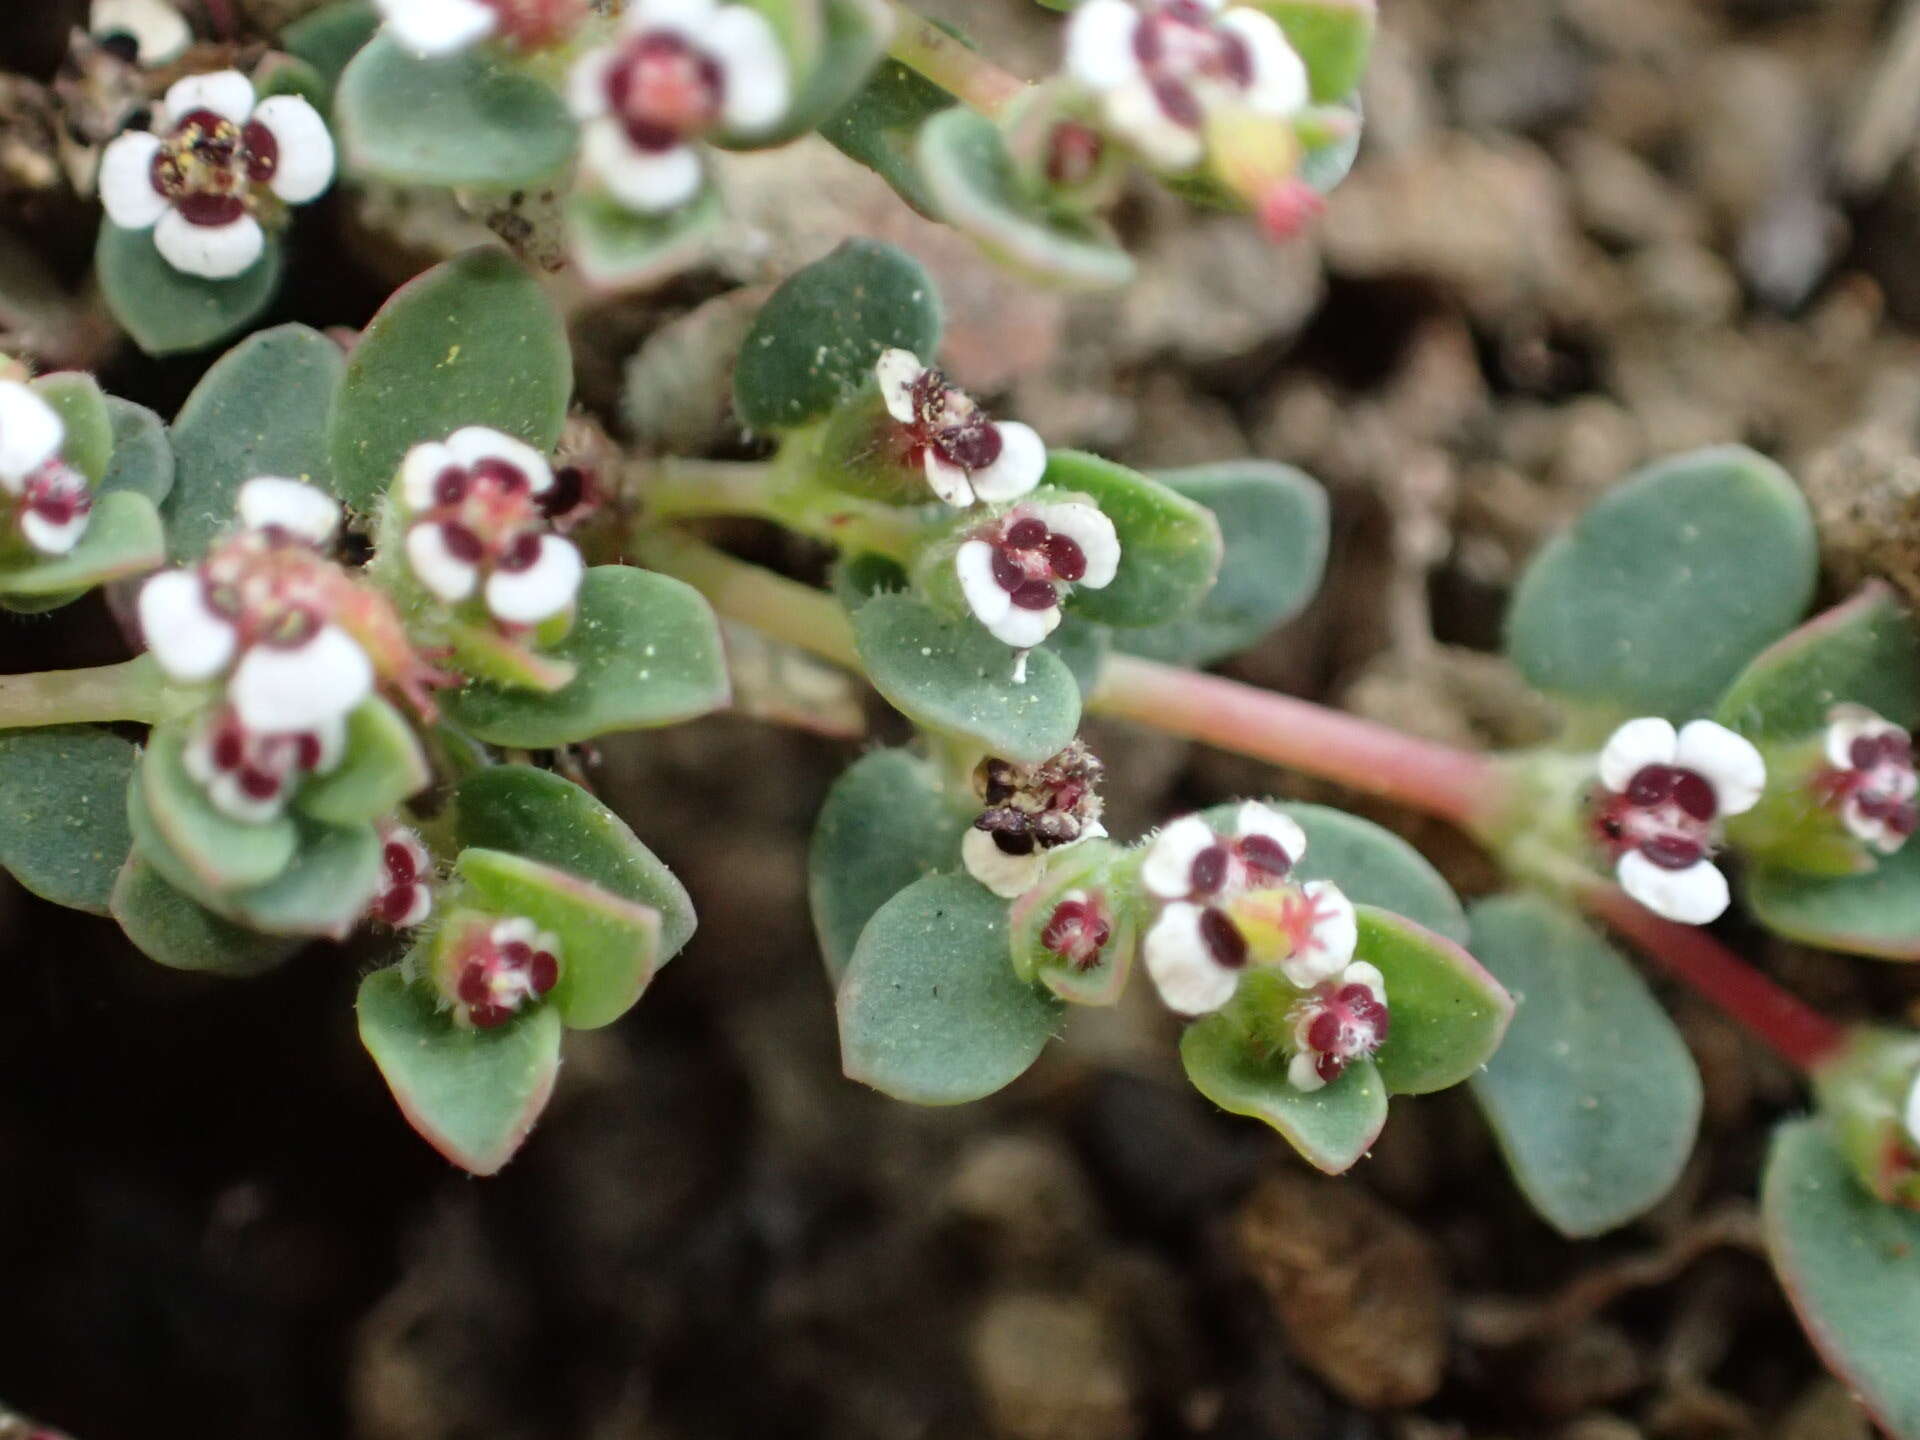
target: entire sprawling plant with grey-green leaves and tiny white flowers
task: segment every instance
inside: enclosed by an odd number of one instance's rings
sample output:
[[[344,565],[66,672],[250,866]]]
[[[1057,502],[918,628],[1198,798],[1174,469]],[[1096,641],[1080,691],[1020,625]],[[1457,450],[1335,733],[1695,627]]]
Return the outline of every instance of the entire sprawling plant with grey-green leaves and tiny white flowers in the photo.
[[[810,129],[1016,269],[1119,284],[1100,215],[1131,169],[1304,223],[1352,157],[1371,35],[1365,4],[1085,0],[1029,86],[881,0],[607,10],[346,0],[196,67],[165,0],[98,0],[98,52],[152,102],[102,138],[117,317],[154,351],[244,328],[296,209],[365,180],[478,213],[545,186],[582,276],[634,284],[718,213],[726,150]],[[177,968],[371,929],[361,1039],[420,1135],[492,1173],[566,1029],[616,1021],[693,931],[574,747],[722,708],[732,672],[745,708],[826,726],[755,666],[808,651],[914,728],[812,837],[851,1077],[973,1100],[1135,983],[1192,1085],[1313,1165],[1357,1164],[1392,1094],[1467,1081],[1540,1213],[1594,1235],[1667,1194],[1699,1117],[1626,941],[1809,1075],[1766,1177],[1776,1260],[1836,1369],[1920,1436],[1920,1039],[1809,1010],[1707,929],[1738,906],[1920,958],[1914,630],[1878,586],[1805,618],[1791,478],[1726,447],[1605,495],[1507,620],[1559,739],[1469,755],[1200,674],[1317,588],[1308,476],[1050,449],[943,372],[941,328],[887,246],[791,275],[732,365],[749,461],[566,426],[564,324],[501,250],[348,340],[250,336],[171,424],[6,367],[0,603],[111,584],[140,653],[0,682],[0,804],[71,818],[0,828],[0,864]],[[826,545],[829,586],[716,549],[710,516]],[[1087,712],[1452,820],[1507,889],[1463,906],[1390,831],[1271,795],[1114,835]]]

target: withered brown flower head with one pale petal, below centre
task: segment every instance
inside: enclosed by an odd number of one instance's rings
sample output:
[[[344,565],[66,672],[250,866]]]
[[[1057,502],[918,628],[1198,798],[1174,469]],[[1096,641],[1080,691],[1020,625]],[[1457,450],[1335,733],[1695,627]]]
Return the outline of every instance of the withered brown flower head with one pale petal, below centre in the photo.
[[[1077,739],[1035,766],[981,760],[973,785],[987,808],[960,841],[968,874],[1014,899],[1041,879],[1054,854],[1106,835],[1100,776],[1100,760]]]

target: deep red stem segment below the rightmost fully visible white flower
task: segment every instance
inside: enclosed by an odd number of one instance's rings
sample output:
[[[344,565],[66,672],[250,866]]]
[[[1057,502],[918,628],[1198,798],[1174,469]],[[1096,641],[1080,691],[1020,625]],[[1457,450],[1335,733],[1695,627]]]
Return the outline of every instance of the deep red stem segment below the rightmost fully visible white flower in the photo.
[[[1845,1046],[1845,1025],[1776,985],[1707,931],[1663,920],[1617,885],[1586,885],[1580,902],[1795,1069],[1811,1075]]]

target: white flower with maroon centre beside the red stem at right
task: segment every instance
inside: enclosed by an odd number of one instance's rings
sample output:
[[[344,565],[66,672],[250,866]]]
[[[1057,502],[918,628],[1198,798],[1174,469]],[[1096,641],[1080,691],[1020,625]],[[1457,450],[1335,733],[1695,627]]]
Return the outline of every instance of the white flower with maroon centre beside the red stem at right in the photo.
[[[1766,789],[1761,753],[1726,726],[1657,716],[1628,720],[1599,753],[1605,795],[1596,833],[1620,889],[1649,910],[1705,925],[1728,906],[1726,876],[1711,856],[1718,824],[1751,810]]]

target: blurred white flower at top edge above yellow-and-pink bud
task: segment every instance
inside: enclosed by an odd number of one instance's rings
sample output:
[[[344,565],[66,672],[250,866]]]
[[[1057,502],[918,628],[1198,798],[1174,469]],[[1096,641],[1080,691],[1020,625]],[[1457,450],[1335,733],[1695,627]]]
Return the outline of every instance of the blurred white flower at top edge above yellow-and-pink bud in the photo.
[[[1240,108],[1286,119],[1309,98],[1306,63],[1281,27],[1219,0],[1085,0],[1068,21],[1066,71],[1164,171],[1202,161],[1210,113]]]

